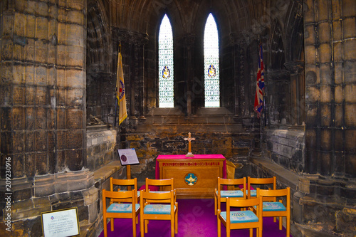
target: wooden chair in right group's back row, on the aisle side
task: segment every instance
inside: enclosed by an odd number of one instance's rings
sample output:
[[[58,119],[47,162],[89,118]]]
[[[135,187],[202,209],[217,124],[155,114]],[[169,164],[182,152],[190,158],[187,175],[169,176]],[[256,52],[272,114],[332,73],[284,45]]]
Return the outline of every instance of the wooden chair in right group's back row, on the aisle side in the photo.
[[[246,190],[246,177],[241,179],[221,179],[218,178],[218,189],[214,189],[214,208],[215,215],[217,210],[221,209],[221,202],[226,202],[226,197],[235,199],[246,199],[246,192],[241,190],[224,190],[223,185],[236,186],[244,185],[244,190]]]

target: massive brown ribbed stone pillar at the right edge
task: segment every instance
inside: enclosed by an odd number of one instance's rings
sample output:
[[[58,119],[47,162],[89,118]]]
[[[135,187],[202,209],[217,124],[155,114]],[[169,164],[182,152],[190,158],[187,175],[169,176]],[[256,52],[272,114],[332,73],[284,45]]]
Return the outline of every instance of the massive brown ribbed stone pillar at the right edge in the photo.
[[[356,233],[355,9],[350,0],[303,4],[309,184],[308,198],[300,200],[303,223],[350,236]]]

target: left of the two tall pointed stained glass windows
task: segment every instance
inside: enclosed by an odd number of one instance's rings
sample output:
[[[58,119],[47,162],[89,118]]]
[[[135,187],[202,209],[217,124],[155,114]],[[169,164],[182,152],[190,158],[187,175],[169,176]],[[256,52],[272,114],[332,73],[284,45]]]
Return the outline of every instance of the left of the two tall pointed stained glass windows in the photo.
[[[174,107],[173,102],[173,33],[164,15],[158,36],[159,107]]]

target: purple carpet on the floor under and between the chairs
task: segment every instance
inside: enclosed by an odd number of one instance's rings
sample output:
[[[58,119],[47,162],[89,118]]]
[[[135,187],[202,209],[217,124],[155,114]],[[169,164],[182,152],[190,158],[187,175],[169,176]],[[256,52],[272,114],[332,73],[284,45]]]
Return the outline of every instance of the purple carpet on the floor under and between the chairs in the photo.
[[[176,237],[216,237],[217,218],[214,214],[214,199],[177,199],[178,201],[178,233]],[[221,209],[225,211],[225,205],[221,204]],[[140,218],[140,215],[139,215]],[[108,237],[111,236],[132,236],[131,219],[115,219],[114,231],[110,231],[108,223]],[[140,220],[136,225],[137,236],[140,236]],[[248,236],[248,230],[232,230],[231,236]],[[104,231],[100,237],[104,236]],[[166,237],[170,236],[169,221],[152,221],[148,224],[148,231],[145,237]],[[221,224],[221,236],[226,236],[226,228]],[[256,230],[253,231],[256,236]],[[273,222],[273,217],[263,218],[263,237],[286,237],[286,228],[281,231],[278,228],[278,221]]]

